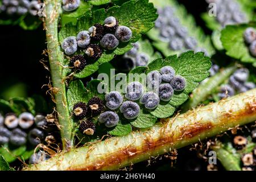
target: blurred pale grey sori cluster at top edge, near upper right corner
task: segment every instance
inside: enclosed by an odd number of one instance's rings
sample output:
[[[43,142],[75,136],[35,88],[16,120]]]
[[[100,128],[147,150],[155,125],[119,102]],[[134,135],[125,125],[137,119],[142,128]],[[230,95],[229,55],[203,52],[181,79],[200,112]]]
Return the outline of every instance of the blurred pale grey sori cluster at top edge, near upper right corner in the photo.
[[[225,27],[228,24],[246,23],[246,14],[241,11],[240,4],[236,0],[206,0],[208,3],[216,3],[216,20]]]

